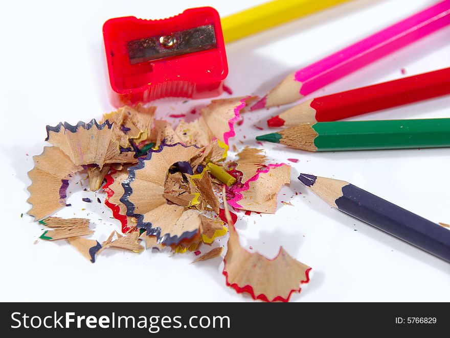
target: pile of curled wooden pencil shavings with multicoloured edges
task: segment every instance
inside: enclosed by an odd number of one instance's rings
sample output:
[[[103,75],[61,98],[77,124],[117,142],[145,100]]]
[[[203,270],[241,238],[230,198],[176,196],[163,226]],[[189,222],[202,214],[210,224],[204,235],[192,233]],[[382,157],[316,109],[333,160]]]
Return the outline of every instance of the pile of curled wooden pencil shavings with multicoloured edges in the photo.
[[[155,119],[155,107],[123,107],[105,114],[101,122],[47,126],[41,155],[34,156],[29,172],[28,212],[47,226],[41,239],[66,239],[84,257],[95,262],[105,249],[142,252],[146,249],[173,254],[212,249],[195,261],[222,255],[216,238],[230,233],[224,255],[226,283],[254,299],[288,301],[309,281],[310,268],[282,248],[274,259],[250,253],[239,244],[234,229],[235,209],[274,213],[277,194],[290,182],[290,166],[265,164],[261,150],[245,148],[228,162],[228,141],[234,124],[250,96],[213,100],[193,122],[183,120],[173,129]],[[88,219],[61,219],[49,215],[66,206],[70,178],[87,173],[89,189],[102,182],[105,204],[122,225],[102,243],[92,236]],[[223,207],[221,207],[223,205]]]

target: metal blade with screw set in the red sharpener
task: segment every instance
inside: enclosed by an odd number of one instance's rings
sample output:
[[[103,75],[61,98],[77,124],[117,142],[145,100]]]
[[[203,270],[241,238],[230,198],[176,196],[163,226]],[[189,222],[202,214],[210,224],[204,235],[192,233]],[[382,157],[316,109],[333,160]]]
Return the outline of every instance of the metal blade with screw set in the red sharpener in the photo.
[[[206,51],[216,46],[213,24],[127,42],[131,64]]]

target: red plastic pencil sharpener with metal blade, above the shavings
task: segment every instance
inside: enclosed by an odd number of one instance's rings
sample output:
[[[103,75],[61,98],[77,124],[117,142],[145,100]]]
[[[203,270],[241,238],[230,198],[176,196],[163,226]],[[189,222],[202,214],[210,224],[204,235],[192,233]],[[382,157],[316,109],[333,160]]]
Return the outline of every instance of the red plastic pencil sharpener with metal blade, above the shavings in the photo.
[[[161,20],[109,19],[103,39],[116,107],[167,96],[209,98],[223,91],[228,63],[214,8],[191,8]]]

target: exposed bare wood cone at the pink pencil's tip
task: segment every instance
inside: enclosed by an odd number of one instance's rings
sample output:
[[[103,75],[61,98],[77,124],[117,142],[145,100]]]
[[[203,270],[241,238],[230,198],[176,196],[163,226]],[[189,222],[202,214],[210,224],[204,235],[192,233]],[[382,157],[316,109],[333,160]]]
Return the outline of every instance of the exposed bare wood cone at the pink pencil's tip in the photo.
[[[302,83],[295,80],[295,73],[289,74],[266,95],[265,107],[284,105],[302,98]]]

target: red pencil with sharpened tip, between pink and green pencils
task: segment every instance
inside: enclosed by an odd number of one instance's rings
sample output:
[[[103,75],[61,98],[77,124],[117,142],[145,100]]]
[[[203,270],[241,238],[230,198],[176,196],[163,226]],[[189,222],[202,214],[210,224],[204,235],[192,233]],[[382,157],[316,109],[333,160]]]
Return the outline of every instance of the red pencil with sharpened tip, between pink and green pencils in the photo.
[[[335,121],[450,94],[450,68],[321,96],[267,120],[269,127]]]

